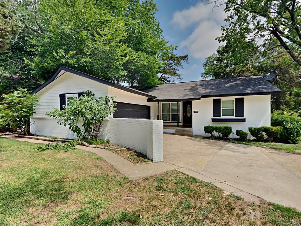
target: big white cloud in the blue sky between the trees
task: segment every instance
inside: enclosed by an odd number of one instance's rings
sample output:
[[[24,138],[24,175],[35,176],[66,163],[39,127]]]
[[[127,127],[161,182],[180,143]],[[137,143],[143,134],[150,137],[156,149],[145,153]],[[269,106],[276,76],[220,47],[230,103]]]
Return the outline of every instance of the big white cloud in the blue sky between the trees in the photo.
[[[189,9],[176,11],[171,23],[175,27],[185,29],[194,25],[194,31],[180,43],[180,47],[195,58],[206,58],[216,52],[222,45],[216,39],[220,36],[221,26],[225,24],[225,12],[223,7],[213,8],[213,5],[205,5],[199,2]]]

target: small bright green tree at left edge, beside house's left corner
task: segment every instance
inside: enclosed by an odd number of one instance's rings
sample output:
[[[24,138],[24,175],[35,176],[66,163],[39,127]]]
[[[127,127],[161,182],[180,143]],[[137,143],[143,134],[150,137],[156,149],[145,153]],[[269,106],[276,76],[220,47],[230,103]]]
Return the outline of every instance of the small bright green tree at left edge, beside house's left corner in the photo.
[[[26,89],[18,89],[1,97],[0,128],[8,125],[28,135],[30,117],[34,113],[33,106],[38,104],[39,97],[36,94],[30,95]]]

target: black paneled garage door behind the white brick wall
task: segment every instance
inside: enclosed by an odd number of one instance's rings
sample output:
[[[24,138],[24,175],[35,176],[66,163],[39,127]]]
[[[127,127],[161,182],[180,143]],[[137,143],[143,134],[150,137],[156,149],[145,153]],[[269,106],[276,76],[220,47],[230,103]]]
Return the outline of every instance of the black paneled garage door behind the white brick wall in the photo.
[[[113,114],[113,118],[141,118],[151,119],[151,106],[129,104],[123,102],[116,103],[117,110]]]

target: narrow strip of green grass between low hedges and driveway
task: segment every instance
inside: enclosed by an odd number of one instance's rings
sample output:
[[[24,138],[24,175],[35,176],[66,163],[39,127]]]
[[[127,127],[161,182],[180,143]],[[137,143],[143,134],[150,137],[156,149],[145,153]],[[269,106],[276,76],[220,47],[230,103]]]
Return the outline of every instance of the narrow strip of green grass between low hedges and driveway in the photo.
[[[250,146],[257,146],[257,147],[267,147],[267,148],[274,148],[279,150],[284,150],[288,152],[296,152],[301,151],[301,144],[284,144],[284,143],[268,143],[268,142],[258,142],[258,141],[237,141],[237,140],[231,140],[233,143],[240,143],[240,144],[246,144]]]

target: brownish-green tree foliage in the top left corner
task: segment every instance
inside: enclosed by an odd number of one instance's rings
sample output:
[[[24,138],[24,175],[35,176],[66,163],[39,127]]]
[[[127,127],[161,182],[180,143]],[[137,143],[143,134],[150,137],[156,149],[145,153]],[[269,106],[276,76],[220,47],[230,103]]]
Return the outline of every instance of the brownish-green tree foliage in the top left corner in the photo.
[[[0,51],[3,51],[17,39],[20,24],[10,10],[13,2],[0,0]]]

